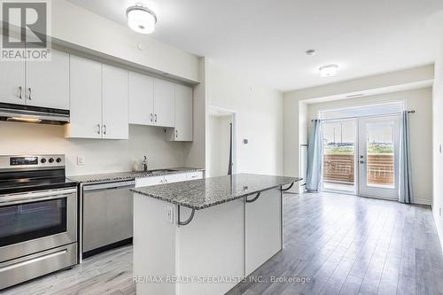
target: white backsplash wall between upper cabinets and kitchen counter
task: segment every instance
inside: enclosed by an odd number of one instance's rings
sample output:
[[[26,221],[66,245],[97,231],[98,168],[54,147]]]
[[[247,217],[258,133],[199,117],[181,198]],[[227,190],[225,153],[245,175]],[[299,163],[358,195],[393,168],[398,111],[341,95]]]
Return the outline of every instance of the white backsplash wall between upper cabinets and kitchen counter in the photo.
[[[62,126],[0,122],[0,138],[0,154],[66,154],[66,175],[128,171],[143,156],[150,168],[184,164],[183,144],[167,142],[163,128],[131,125],[128,140],[65,139]],[[76,165],[77,156],[85,157],[84,166]]]

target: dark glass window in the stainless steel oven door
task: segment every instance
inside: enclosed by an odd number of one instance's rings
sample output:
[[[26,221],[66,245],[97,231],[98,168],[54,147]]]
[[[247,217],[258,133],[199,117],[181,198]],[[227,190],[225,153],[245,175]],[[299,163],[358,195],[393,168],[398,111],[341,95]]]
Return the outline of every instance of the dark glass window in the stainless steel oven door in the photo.
[[[0,246],[66,231],[66,198],[0,207]]]

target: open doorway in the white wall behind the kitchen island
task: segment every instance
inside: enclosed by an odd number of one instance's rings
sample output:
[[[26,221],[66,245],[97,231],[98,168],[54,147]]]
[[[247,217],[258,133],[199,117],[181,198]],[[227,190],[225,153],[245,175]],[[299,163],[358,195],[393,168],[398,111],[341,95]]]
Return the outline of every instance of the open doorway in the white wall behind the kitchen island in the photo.
[[[206,175],[233,175],[237,172],[236,113],[209,107],[209,141]]]

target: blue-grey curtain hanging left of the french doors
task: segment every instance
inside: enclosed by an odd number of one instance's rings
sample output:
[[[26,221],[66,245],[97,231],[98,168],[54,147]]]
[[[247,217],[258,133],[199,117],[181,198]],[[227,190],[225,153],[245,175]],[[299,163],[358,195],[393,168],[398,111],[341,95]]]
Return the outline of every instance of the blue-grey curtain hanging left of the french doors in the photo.
[[[320,191],[322,185],[323,140],[322,121],[312,123],[309,144],[307,144],[307,191]]]

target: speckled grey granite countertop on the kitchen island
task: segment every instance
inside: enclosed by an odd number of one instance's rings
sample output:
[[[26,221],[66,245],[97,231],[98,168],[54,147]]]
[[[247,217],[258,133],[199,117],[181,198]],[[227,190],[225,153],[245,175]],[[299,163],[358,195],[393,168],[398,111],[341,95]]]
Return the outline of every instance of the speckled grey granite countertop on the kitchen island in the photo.
[[[132,191],[199,210],[300,180],[285,176],[239,174],[153,185]]]

